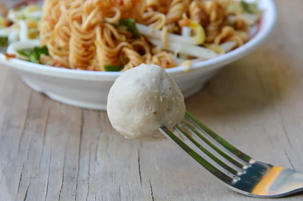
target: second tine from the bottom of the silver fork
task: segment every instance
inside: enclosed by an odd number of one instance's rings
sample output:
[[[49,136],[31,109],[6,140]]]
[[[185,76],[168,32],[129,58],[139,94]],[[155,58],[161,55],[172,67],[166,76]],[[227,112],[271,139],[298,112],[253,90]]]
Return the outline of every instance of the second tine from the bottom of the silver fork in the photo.
[[[175,129],[178,131],[178,133],[185,139],[187,139],[189,142],[192,143],[193,146],[196,146],[197,148],[200,149],[200,152],[204,152],[207,156],[209,156],[213,161],[215,161],[218,165],[220,165],[221,167],[223,167],[225,170],[227,170],[228,172],[237,175],[239,172],[240,173],[245,173],[245,171],[243,171],[240,168],[232,169],[230,166],[228,166],[227,164],[225,164],[221,159],[218,159],[216,156],[214,156],[214,154],[212,154],[211,152],[209,152],[209,150],[207,150],[203,145],[199,144],[196,140],[194,140],[194,138],[192,138],[188,133],[186,133],[180,126],[176,126]]]

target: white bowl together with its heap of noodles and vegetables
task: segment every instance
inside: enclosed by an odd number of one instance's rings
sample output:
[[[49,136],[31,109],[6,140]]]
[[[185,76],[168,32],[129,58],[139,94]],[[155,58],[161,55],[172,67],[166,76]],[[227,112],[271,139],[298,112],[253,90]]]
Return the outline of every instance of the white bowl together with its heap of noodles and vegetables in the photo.
[[[96,110],[106,109],[115,79],[142,63],[166,69],[190,96],[260,45],[276,20],[272,0],[45,0],[31,7],[39,14],[35,34],[32,19],[1,27],[0,45],[8,47],[0,62],[34,90]]]

